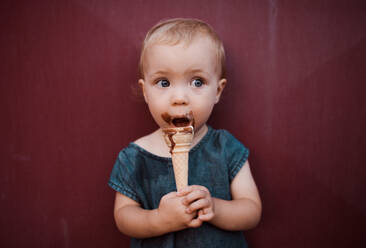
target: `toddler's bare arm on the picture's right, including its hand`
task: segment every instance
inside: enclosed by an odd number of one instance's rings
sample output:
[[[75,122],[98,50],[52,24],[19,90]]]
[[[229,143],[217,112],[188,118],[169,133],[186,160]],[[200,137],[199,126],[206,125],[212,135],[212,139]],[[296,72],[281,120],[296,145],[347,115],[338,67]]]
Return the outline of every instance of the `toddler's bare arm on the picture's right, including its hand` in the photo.
[[[178,195],[186,195],[187,213],[199,210],[202,221],[231,231],[255,227],[261,217],[262,204],[248,162],[235,176],[230,189],[231,201],[211,197],[205,187],[198,185],[188,186]]]

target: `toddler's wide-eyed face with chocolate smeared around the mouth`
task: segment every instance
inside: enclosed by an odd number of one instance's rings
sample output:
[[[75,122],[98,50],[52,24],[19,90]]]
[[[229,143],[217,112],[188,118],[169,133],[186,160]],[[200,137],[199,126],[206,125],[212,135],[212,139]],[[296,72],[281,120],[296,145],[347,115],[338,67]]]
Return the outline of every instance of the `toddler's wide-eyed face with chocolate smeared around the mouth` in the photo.
[[[151,45],[144,58],[144,79],[139,80],[149,110],[160,127],[169,127],[163,116],[193,113],[199,129],[219,101],[226,79],[220,79],[215,48],[206,37],[189,46]]]

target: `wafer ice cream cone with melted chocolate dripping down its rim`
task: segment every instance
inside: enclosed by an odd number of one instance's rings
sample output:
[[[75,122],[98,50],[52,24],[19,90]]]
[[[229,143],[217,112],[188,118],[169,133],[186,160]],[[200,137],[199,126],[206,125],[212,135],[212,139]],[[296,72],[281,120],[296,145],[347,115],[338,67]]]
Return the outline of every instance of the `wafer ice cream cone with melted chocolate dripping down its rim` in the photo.
[[[193,127],[166,128],[163,132],[172,154],[175,184],[179,191],[188,185],[188,159],[193,140]]]

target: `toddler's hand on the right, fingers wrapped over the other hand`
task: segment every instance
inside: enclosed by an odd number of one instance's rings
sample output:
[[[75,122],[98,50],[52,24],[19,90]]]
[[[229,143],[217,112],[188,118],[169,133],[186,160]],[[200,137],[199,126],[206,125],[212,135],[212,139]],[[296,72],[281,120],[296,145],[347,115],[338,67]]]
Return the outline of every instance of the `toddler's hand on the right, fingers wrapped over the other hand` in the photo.
[[[206,187],[191,185],[185,187],[177,195],[184,196],[182,202],[187,206],[186,213],[191,214],[198,211],[198,219],[201,221],[210,221],[215,216],[215,204]]]

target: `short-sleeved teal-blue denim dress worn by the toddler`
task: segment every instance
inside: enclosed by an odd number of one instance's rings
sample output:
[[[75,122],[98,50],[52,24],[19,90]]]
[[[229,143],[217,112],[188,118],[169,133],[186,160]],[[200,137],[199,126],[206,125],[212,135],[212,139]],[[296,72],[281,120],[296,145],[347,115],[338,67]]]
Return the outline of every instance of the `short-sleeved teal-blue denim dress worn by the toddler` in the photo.
[[[208,127],[189,151],[188,184],[203,185],[213,197],[231,200],[230,183],[248,159],[249,151],[229,132]],[[141,204],[156,209],[165,194],[176,191],[171,158],[154,155],[135,143],[123,149],[113,167],[109,186]],[[131,239],[131,247],[244,248],[242,232],[225,231],[207,222],[159,237]]]

